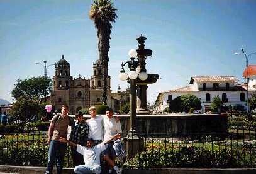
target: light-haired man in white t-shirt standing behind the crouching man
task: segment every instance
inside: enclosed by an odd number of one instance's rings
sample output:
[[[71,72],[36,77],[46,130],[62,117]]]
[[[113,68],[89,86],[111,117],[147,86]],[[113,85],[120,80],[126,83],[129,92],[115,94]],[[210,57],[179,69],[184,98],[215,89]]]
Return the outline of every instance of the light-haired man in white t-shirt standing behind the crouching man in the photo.
[[[91,118],[86,120],[89,125],[89,138],[94,140],[97,145],[103,141],[103,117],[96,115],[96,107],[91,106],[89,108]]]

